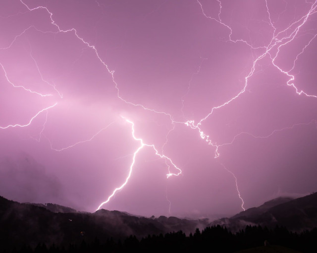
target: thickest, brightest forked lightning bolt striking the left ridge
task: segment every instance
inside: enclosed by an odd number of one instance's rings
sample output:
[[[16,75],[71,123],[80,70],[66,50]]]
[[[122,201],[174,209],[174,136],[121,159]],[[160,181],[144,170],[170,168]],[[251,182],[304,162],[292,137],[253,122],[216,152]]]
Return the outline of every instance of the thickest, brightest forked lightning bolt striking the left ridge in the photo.
[[[133,137],[134,140],[140,142],[140,146],[139,146],[139,147],[137,148],[137,150],[133,153],[133,158],[132,158],[132,163],[131,163],[131,165],[130,165],[129,173],[128,173],[128,176],[126,177],[124,183],[123,183],[121,186],[115,188],[115,189],[113,190],[112,194],[107,198],[107,200],[99,205],[99,207],[98,207],[97,210],[99,210],[103,205],[105,205],[106,203],[108,203],[108,202],[110,201],[110,199],[116,194],[116,192],[118,192],[118,191],[120,191],[121,189],[123,189],[123,187],[128,183],[129,178],[131,177],[131,174],[132,174],[133,166],[134,166],[134,164],[135,164],[135,158],[136,158],[137,154],[139,153],[139,151],[140,151],[143,147],[145,147],[145,146],[147,146],[147,147],[152,147],[152,148],[155,150],[155,154],[156,154],[157,156],[159,156],[160,158],[165,158],[166,160],[168,160],[168,161],[174,166],[174,168],[179,171],[179,172],[176,173],[176,174],[169,172],[169,173],[167,174],[167,178],[170,177],[170,176],[172,176],[172,175],[177,176],[177,175],[181,174],[181,172],[182,172],[182,170],[179,169],[179,168],[172,162],[172,160],[171,160],[170,158],[168,158],[168,157],[165,156],[165,155],[160,155],[159,152],[158,152],[158,150],[155,148],[155,146],[154,146],[153,144],[152,144],[152,145],[146,144],[146,143],[143,142],[143,139],[137,138],[137,137],[135,136],[134,123],[133,123],[132,121],[129,121],[129,120],[125,119],[124,117],[122,117],[122,118],[123,118],[127,123],[129,123],[129,124],[132,125],[132,132],[131,132],[131,133],[132,133],[132,137]]]

